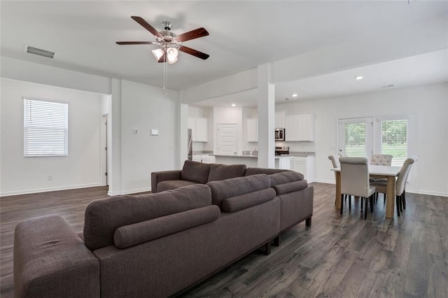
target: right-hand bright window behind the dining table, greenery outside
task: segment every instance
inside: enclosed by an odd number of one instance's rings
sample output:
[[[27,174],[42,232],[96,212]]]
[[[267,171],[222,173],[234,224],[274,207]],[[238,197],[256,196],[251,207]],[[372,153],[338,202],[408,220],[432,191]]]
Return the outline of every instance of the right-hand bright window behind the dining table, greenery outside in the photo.
[[[381,121],[381,154],[390,154],[392,166],[407,159],[407,120]]]

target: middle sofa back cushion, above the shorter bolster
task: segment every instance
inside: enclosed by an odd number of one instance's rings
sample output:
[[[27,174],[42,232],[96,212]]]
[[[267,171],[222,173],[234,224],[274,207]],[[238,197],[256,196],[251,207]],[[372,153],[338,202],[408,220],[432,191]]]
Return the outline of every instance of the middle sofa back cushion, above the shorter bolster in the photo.
[[[211,203],[223,210],[223,201],[249,192],[256,192],[271,187],[271,180],[266,174],[237,177],[207,183],[211,189]]]

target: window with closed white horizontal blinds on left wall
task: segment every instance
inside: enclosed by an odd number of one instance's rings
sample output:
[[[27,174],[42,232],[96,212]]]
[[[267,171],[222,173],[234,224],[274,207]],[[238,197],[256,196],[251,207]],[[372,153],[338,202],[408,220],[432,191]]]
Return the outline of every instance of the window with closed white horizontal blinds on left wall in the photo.
[[[23,100],[25,157],[67,156],[69,104]]]

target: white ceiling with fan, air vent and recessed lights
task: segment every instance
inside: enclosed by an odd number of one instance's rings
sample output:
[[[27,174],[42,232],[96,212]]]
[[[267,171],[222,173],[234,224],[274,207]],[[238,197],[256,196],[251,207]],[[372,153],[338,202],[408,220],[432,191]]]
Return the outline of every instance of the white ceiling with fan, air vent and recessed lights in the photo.
[[[184,43],[210,55],[183,52],[168,66],[168,87],[182,90],[267,62],[346,45],[372,63],[299,80],[276,82],[276,101],[337,97],[448,81],[447,1],[1,1],[1,55],[30,62],[162,86],[154,41],[130,18],[138,15],[162,30],[181,34],[205,27],[210,35]],[[365,44],[374,46],[362,47]],[[30,55],[32,45],[57,52],[55,59]],[[405,50],[403,50],[405,49]],[[381,56],[381,59],[377,57]],[[342,61],[344,62],[344,61]],[[322,61],[319,63],[331,63]],[[297,65],[300,67],[300,65]],[[354,80],[362,75],[363,80]],[[256,106],[256,90],[198,106]]]

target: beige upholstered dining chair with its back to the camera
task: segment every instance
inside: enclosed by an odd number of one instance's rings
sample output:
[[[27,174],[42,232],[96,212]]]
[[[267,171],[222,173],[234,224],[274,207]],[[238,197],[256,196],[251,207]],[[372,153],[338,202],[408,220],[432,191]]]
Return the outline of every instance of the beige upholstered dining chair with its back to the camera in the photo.
[[[361,198],[361,207],[365,201],[364,219],[367,218],[367,200],[370,201],[370,212],[373,212],[373,194],[375,187],[369,182],[368,160],[365,157],[339,157],[341,164],[341,193]],[[341,197],[341,214],[344,200]],[[349,200],[351,209],[351,200]],[[361,209],[362,210],[362,209]]]

